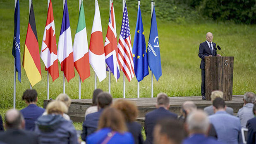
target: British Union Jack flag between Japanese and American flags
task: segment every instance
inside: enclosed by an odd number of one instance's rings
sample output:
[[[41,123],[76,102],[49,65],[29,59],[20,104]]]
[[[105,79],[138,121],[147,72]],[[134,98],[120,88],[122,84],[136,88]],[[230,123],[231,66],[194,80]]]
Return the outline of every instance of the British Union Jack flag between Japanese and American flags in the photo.
[[[111,6],[109,15],[108,31],[105,40],[104,50],[106,63],[117,81],[117,79],[120,77],[120,68],[117,62],[117,30],[115,25],[115,11],[113,4]]]

